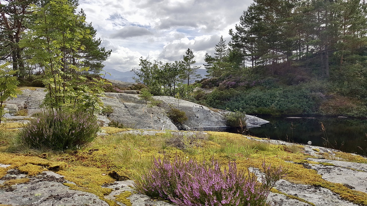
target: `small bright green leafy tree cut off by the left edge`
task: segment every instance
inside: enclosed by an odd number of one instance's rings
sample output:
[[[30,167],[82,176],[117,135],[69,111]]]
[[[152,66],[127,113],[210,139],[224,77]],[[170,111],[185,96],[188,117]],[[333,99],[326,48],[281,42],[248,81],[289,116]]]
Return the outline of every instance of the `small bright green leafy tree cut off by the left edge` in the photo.
[[[17,77],[14,76],[17,70],[11,70],[9,65],[9,62],[0,65],[0,124],[5,114],[3,103],[8,98],[16,98],[17,94],[21,93],[21,91],[17,89],[19,81]]]

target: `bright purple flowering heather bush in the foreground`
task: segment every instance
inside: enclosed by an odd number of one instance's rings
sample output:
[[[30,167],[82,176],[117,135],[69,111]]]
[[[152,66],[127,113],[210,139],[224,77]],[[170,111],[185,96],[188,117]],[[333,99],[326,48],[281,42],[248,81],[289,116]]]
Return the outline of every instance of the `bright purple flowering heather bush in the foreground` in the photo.
[[[261,184],[257,176],[237,170],[229,162],[222,171],[217,161],[202,164],[176,157],[173,162],[154,159],[153,166],[135,187],[148,196],[161,197],[181,206],[265,206],[269,190],[281,178],[281,168],[263,165]]]

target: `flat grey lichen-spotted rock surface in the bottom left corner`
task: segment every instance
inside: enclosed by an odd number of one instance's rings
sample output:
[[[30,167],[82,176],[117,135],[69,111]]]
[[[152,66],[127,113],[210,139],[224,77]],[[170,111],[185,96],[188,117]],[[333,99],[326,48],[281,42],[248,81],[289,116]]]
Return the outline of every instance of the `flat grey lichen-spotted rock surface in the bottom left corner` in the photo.
[[[0,204],[11,206],[108,206],[98,196],[63,185],[63,176],[46,172],[35,177],[11,170],[1,180],[29,178],[28,183],[0,188]]]

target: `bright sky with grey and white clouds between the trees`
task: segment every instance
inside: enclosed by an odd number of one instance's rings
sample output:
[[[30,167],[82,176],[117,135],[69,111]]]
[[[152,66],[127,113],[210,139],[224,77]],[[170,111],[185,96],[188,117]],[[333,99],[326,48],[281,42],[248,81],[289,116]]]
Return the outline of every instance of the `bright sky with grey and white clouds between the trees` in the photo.
[[[171,62],[193,50],[197,65],[214,55],[219,38],[252,0],[79,0],[87,22],[97,29],[102,46],[112,49],[105,69],[128,71],[139,58]]]

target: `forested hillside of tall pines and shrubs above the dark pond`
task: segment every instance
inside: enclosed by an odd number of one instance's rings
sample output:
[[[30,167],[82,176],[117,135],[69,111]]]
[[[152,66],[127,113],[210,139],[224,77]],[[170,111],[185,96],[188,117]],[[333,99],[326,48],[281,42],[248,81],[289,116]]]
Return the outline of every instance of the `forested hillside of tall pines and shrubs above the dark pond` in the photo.
[[[367,4],[255,0],[206,54],[197,101],[249,114],[367,115]]]

